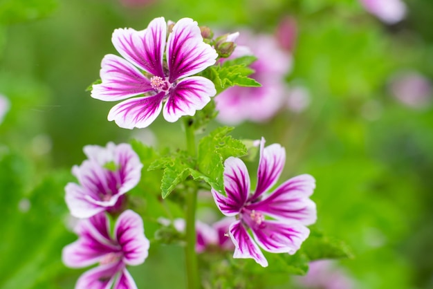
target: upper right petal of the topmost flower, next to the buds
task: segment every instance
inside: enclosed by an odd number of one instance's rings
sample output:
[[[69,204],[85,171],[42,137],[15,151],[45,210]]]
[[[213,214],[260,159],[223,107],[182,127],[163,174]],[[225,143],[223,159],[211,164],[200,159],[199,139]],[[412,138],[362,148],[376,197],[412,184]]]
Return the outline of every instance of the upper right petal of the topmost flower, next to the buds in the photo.
[[[169,82],[203,71],[216,62],[216,57],[214,48],[203,42],[197,22],[180,19],[167,39]]]

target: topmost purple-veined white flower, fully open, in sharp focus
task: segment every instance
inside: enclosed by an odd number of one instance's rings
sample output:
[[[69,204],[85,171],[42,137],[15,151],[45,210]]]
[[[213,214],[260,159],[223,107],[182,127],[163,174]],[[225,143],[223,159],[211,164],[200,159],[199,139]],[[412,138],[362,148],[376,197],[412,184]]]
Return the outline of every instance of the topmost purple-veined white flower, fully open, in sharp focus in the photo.
[[[119,127],[148,127],[161,110],[165,120],[175,122],[203,109],[216,94],[210,80],[192,76],[212,66],[218,57],[203,42],[196,21],[180,19],[167,38],[167,24],[159,17],[145,30],[116,29],[111,40],[126,60],[105,55],[102,83],[93,85],[91,96],[109,102],[124,100],[108,115]]]

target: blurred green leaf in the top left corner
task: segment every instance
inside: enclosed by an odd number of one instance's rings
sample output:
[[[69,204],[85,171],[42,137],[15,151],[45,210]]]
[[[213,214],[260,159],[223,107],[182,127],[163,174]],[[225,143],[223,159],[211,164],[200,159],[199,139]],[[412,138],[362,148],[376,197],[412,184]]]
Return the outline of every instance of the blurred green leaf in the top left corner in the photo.
[[[0,24],[13,24],[46,17],[56,7],[56,0],[3,0],[0,1]]]

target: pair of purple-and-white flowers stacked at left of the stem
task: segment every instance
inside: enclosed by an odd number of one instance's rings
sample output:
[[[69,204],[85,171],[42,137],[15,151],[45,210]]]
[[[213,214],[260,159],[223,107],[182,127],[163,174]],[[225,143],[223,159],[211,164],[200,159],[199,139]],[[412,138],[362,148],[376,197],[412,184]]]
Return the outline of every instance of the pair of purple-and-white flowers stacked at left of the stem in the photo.
[[[75,227],[79,239],[64,248],[62,259],[71,268],[99,263],[82,274],[75,288],[136,288],[126,267],[145,261],[149,240],[141,217],[122,209],[125,193],[140,180],[142,164],[127,144],[86,146],[84,153],[88,160],[73,167],[80,185],[68,183],[65,188],[71,214],[82,218]],[[113,234],[106,212],[122,212]]]

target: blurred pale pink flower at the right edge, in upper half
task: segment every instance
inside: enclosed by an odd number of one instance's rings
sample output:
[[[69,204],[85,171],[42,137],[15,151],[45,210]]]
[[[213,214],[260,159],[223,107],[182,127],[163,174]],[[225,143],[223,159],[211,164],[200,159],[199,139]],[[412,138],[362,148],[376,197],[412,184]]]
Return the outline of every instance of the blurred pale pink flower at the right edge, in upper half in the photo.
[[[416,71],[406,71],[391,77],[389,91],[396,99],[414,109],[422,109],[432,102],[430,80]]]

